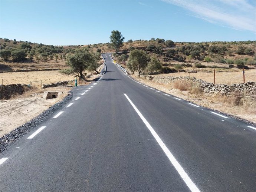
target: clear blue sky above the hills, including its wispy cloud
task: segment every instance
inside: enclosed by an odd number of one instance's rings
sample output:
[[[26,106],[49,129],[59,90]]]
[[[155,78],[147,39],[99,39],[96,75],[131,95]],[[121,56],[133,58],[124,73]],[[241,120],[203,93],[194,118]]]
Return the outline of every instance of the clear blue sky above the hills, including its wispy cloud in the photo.
[[[255,0],[0,0],[0,37],[53,45],[256,40]]]

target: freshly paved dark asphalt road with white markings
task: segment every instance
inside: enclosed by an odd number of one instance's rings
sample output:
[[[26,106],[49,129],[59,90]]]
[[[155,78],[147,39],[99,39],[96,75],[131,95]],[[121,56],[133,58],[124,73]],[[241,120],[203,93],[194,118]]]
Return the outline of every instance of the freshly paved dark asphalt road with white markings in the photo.
[[[255,128],[104,57],[99,80],[0,153],[0,191],[256,191]]]

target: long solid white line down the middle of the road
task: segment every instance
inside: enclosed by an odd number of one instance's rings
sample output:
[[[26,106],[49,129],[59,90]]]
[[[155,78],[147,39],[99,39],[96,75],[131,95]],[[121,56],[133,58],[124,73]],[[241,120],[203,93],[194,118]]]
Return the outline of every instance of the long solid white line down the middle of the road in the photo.
[[[141,117],[142,121],[145,123],[147,128],[150,130],[151,134],[155,138],[155,140],[158,142],[160,147],[163,149],[165,155],[168,157],[170,162],[173,164],[175,169],[180,174],[183,181],[187,184],[188,188],[192,192],[200,192],[197,186],[193,183],[193,181],[190,179],[190,177],[187,175],[187,173],[184,171],[184,169],[181,167],[180,163],[175,159],[173,154],[170,152],[170,150],[167,148],[167,146],[164,144],[164,142],[160,139],[160,137],[157,135],[155,130],[151,127],[151,125],[148,123],[148,121],[145,119],[145,117],[141,114],[141,112],[137,109],[137,107],[132,103],[132,101],[129,99],[129,97],[124,93],[125,97],[129,101],[129,103],[132,105],[134,110],[137,112],[137,114]]]

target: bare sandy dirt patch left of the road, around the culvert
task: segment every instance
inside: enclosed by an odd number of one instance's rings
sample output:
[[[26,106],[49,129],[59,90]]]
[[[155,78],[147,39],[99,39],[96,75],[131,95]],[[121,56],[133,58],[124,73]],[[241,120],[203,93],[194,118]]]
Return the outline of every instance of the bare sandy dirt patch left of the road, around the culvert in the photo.
[[[0,137],[39,115],[54,103],[68,95],[71,87],[39,89],[19,99],[0,100]],[[63,92],[56,99],[43,99],[43,91]]]

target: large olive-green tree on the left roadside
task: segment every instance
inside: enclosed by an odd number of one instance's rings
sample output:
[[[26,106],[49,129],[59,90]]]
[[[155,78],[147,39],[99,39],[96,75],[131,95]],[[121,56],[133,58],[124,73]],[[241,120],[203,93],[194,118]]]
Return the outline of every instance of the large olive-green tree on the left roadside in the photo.
[[[76,49],[75,53],[69,53],[66,56],[66,63],[70,69],[64,70],[63,73],[74,75],[79,79],[85,79],[84,70],[92,71],[97,67],[95,54],[89,52],[88,49]]]

